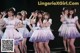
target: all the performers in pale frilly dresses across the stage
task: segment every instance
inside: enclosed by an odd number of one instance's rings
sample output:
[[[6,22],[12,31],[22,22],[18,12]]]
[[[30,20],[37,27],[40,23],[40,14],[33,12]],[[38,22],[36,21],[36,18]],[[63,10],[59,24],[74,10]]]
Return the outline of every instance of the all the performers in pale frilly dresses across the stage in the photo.
[[[16,9],[13,7],[6,12],[0,12],[0,39],[14,39],[13,53],[27,53],[27,38],[33,42],[35,53],[50,53],[48,44],[55,38],[50,29],[52,24],[50,14],[44,11],[34,11],[28,18],[25,10],[15,12]],[[80,37],[77,30],[77,27],[80,29],[80,24],[75,13],[74,8],[63,8],[60,15],[62,25],[58,30],[59,36],[63,37],[65,51],[70,53],[76,53],[74,42]],[[29,26],[30,31],[26,26]],[[6,29],[3,32],[4,28]]]

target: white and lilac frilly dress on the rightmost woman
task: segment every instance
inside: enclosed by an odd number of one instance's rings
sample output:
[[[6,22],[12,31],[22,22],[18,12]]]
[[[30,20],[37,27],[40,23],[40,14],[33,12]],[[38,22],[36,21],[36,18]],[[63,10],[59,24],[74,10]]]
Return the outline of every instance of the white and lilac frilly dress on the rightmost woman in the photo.
[[[64,38],[75,39],[80,37],[80,33],[76,27],[77,21],[78,21],[78,16],[75,16],[74,18],[67,18],[67,29],[66,29],[66,35],[63,36]]]

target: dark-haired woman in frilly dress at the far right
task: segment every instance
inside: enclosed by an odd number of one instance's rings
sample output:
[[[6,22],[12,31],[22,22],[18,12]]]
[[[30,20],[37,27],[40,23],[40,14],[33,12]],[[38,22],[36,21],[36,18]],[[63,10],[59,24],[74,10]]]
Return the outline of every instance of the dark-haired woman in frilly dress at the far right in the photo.
[[[66,35],[64,36],[65,38],[69,39],[69,49],[71,53],[76,53],[75,50],[75,39],[80,37],[80,33],[77,30],[76,25],[80,29],[80,25],[78,23],[78,16],[75,15],[75,9],[70,9],[69,10],[69,18],[67,18],[67,30],[66,30]]]

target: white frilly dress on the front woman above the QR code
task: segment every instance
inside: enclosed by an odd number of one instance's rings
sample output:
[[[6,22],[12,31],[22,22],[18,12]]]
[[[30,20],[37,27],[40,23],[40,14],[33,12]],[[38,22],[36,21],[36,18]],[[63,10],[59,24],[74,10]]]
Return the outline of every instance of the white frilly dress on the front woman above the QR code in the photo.
[[[4,18],[4,21],[6,22],[6,30],[2,36],[2,39],[14,39],[14,44],[18,45],[23,39],[23,36],[14,28],[17,20],[15,18],[13,20]]]

